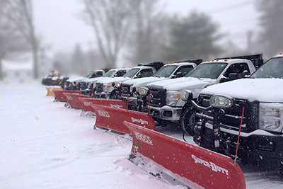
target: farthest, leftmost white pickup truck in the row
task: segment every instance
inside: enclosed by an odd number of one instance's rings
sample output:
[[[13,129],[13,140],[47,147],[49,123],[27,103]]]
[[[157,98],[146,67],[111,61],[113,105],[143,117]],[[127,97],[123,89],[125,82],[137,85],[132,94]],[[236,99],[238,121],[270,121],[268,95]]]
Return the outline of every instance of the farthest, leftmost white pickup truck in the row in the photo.
[[[105,75],[105,73],[108,71],[109,69],[96,69],[96,70],[91,70],[88,72],[88,74],[86,74],[86,76],[82,76],[79,78],[73,78],[73,79],[68,79],[67,82],[65,82],[65,86],[64,86],[64,90],[67,91],[75,91],[75,90],[79,90],[80,86],[79,86],[79,82],[82,81],[83,79],[90,79],[90,78],[98,78],[98,77],[102,77]]]

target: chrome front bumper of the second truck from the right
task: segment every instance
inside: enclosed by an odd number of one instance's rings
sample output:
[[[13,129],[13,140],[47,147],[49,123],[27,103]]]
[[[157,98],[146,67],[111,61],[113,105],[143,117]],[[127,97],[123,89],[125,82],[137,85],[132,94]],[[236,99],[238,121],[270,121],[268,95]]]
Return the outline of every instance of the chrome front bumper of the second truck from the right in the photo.
[[[149,105],[147,105],[147,108],[149,109]],[[161,120],[171,120],[171,121],[179,121],[182,110],[183,107],[171,107],[168,105],[164,105],[161,108],[154,106],[150,107],[151,115]]]

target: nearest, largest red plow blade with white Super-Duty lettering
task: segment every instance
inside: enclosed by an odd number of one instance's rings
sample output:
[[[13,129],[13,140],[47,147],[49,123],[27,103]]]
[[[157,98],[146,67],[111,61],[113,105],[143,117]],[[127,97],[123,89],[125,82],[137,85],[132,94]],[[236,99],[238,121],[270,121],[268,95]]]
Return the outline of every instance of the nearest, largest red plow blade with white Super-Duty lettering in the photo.
[[[129,161],[166,183],[188,188],[246,188],[243,171],[228,156],[148,130],[131,122]]]

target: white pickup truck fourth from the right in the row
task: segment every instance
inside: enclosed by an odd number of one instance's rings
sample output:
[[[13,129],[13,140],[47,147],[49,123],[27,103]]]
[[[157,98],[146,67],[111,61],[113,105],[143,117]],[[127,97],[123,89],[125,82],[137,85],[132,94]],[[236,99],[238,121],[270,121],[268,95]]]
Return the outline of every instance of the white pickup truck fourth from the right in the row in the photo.
[[[115,78],[103,78],[96,82],[95,98],[117,99],[119,98],[119,89],[123,81],[129,79],[138,79],[149,77],[154,74],[158,69],[163,67],[162,62],[151,62],[138,64],[138,67],[129,69],[127,74]]]

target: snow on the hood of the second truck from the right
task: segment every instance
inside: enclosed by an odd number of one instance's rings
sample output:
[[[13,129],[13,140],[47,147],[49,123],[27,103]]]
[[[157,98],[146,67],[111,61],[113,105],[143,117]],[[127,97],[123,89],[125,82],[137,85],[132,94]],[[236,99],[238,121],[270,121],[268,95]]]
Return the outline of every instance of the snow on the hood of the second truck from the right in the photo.
[[[178,79],[170,79],[157,81],[147,86],[155,85],[155,86],[163,86],[167,90],[183,90],[183,89],[192,89],[192,88],[202,88],[207,84],[212,84],[216,82],[215,79],[198,79],[195,77],[183,77]]]

